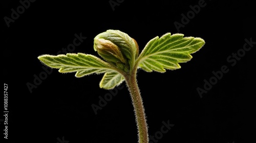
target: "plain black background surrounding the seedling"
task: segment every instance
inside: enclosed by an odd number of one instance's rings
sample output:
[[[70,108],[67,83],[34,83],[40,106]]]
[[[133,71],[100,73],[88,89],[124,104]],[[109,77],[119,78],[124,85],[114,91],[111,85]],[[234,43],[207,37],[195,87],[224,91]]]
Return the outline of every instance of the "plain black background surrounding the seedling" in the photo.
[[[87,39],[72,53],[98,56],[93,50],[94,37],[108,29],[129,34],[140,51],[149,40],[167,32],[206,42],[191,61],[180,64],[181,69],[138,73],[149,134],[160,131],[162,122],[175,125],[158,142],[254,142],[255,44],[234,66],[227,58],[243,49],[244,39],[256,41],[255,5],[205,1],[206,6],[178,31],[174,22],[181,23],[181,14],[186,15],[189,6],[198,2],[125,0],[113,11],[109,1],[35,1],[9,28],[4,17],[11,17],[11,9],[21,4],[1,2],[2,77],[8,84],[9,110],[9,139],[4,142],[56,143],[62,137],[70,143],[137,142],[133,106],[124,83],[96,115],[92,104],[99,105],[99,97],[109,93],[99,88],[103,75],[75,78],[74,73],[53,69],[32,92],[27,86],[44,71],[39,55],[56,55],[81,33]],[[203,88],[204,80],[209,81],[212,71],[223,65],[228,73],[200,98],[197,88]]]

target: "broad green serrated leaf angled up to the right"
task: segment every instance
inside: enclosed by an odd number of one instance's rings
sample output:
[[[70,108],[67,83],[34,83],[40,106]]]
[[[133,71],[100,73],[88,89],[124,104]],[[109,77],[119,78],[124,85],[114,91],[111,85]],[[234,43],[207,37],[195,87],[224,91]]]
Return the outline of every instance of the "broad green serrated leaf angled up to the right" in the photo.
[[[179,63],[189,61],[190,54],[197,52],[204,45],[204,40],[195,37],[183,37],[183,34],[170,33],[150,40],[141,52],[137,62],[147,72],[181,68]]]

